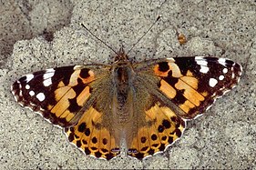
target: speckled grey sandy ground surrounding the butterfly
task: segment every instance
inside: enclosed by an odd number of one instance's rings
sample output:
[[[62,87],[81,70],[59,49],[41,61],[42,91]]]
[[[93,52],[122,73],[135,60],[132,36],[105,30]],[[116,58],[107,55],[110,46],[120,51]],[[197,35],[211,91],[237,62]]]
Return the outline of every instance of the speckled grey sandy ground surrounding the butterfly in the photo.
[[[6,43],[1,43],[0,63],[0,169],[256,167],[255,1],[26,3],[8,1],[0,7],[1,41]],[[131,57],[139,61],[215,55],[244,69],[240,84],[190,121],[183,137],[164,154],[143,161],[124,153],[111,161],[85,156],[69,145],[61,129],[15,103],[10,85],[21,75],[63,65],[108,63],[113,52],[79,23],[115,50],[120,45],[128,50],[158,15],[162,19]],[[179,45],[177,30],[186,35],[187,44]]]

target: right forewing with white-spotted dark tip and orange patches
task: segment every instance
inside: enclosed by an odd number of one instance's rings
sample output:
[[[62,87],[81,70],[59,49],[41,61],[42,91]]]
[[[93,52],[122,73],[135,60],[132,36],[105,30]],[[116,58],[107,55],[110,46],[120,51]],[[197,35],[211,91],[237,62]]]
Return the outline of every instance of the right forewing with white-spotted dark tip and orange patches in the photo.
[[[182,110],[178,114],[185,119],[201,115],[236,86],[242,70],[229,59],[203,56],[164,59],[151,69],[159,76],[159,91]]]

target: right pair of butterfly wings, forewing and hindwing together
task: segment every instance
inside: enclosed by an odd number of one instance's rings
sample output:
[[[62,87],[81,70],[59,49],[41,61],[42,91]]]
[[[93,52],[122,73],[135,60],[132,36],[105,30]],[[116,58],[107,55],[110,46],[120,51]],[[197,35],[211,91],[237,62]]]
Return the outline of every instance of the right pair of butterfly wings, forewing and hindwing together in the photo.
[[[173,144],[182,135],[186,120],[201,115],[241,77],[241,65],[215,57],[151,60],[134,69],[139,98],[134,107],[142,110],[135,114],[141,116],[130,129],[134,133],[128,139],[128,155],[138,159]]]

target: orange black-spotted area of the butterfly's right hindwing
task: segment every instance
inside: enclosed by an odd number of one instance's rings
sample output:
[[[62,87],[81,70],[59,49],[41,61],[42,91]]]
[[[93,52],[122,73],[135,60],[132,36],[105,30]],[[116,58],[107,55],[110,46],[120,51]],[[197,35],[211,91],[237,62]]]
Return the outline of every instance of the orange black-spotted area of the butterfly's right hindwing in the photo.
[[[184,129],[184,122],[167,106],[159,103],[145,111],[148,125],[138,128],[128,148],[128,155],[140,158],[163,151],[180,137]],[[175,117],[175,118],[173,118]],[[183,123],[182,123],[183,122]],[[177,134],[178,133],[178,134]],[[164,146],[164,148],[163,148]],[[150,150],[150,152],[148,152]]]

